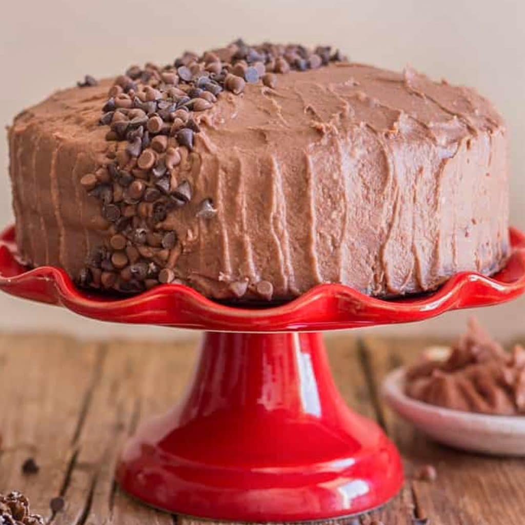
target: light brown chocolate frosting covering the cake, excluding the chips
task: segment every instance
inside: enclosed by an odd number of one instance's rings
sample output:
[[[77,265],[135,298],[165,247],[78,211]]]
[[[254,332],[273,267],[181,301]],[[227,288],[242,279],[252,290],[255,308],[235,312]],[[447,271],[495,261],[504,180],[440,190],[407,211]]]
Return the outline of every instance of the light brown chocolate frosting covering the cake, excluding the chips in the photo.
[[[108,243],[80,179],[123,147],[99,125],[112,83],[59,91],[9,129],[28,264],[77,278]],[[209,297],[286,299],[323,282],[398,296],[491,274],[509,254],[505,127],[472,89],[340,62],[222,92],[196,120],[173,175],[193,197],[162,225],[180,241],[164,266]]]

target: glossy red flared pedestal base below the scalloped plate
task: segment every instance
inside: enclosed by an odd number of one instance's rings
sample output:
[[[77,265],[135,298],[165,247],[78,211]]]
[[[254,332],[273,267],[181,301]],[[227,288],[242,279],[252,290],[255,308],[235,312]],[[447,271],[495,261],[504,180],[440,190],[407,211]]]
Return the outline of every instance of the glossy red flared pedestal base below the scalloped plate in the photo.
[[[403,473],[379,426],[343,401],[320,334],[207,332],[183,400],[139,427],[117,479],[170,512],[261,522],[371,510]]]

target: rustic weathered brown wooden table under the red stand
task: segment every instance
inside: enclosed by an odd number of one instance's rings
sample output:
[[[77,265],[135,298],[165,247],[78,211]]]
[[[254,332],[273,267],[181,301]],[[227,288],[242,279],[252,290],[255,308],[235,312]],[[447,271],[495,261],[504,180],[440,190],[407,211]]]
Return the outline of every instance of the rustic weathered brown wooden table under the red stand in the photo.
[[[378,387],[386,372],[412,361],[429,341],[355,333],[327,339],[335,379],[348,403],[395,440],[407,476],[400,496],[362,522],[412,525],[413,517],[428,517],[432,525],[523,525],[523,460],[436,445],[383,405]],[[113,468],[141,418],[162,412],[180,394],[194,346],[0,334],[0,492],[23,491],[34,511],[57,525],[173,525],[176,517],[125,496]],[[39,465],[37,474],[23,474],[28,457]],[[414,478],[424,464],[436,467],[436,481]],[[66,506],[51,516],[49,501],[58,495]]]

